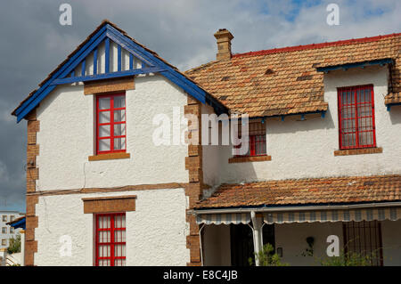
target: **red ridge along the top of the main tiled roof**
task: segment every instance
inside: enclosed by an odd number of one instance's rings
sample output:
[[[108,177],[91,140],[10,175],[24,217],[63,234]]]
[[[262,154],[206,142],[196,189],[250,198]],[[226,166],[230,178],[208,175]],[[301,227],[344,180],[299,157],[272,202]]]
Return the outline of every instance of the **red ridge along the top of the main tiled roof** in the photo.
[[[266,55],[266,54],[273,54],[273,53],[289,53],[289,52],[296,52],[301,50],[307,49],[317,49],[329,46],[340,46],[340,45],[355,45],[360,43],[368,43],[373,41],[378,41],[383,38],[388,37],[398,37],[401,36],[401,33],[392,33],[387,35],[380,35],[375,37],[359,37],[359,38],[351,38],[351,39],[341,39],[338,41],[333,42],[324,42],[318,44],[308,44],[308,45],[294,45],[294,46],[286,46],[286,47],[279,47],[273,49],[265,49],[256,52],[248,52],[248,53],[235,53],[233,54],[234,57],[244,57],[244,56],[257,56],[257,55]]]

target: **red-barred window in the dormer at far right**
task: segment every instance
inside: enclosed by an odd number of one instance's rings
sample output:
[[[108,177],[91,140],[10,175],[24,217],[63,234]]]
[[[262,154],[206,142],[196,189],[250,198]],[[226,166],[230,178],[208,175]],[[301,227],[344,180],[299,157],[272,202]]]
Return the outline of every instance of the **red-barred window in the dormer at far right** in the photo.
[[[338,89],[340,149],[376,147],[373,85]]]

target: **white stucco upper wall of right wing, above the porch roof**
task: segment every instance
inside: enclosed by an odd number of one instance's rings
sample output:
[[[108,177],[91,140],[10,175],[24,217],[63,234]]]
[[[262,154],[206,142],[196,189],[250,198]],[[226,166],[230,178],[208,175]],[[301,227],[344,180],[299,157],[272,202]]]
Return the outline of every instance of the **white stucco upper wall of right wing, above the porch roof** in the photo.
[[[324,100],[329,103],[325,118],[307,116],[305,121],[300,121],[300,116],[287,117],[284,121],[266,119],[267,154],[272,160],[228,164],[231,148],[224,148],[220,153],[219,183],[401,173],[401,151],[398,149],[401,112],[397,108],[391,112],[386,110],[387,77],[387,67],[328,73],[324,76]],[[334,150],[340,147],[336,88],[367,84],[374,86],[376,141],[383,153],[334,157]],[[208,163],[204,160],[204,164]]]

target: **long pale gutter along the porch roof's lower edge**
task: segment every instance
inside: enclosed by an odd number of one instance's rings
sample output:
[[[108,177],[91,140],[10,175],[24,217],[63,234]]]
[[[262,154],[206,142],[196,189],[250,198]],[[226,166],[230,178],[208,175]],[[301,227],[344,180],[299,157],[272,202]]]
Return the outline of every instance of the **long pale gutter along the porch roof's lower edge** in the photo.
[[[307,206],[307,207],[250,207],[250,208],[225,208],[225,209],[192,209],[188,213],[192,215],[218,214],[218,213],[255,213],[262,212],[283,212],[283,211],[311,211],[311,210],[332,210],[332,209],[357,209],[371,207],[401,207],[401,201],[386,203],[365,203],[353,205],[328,205],[328,206]]]

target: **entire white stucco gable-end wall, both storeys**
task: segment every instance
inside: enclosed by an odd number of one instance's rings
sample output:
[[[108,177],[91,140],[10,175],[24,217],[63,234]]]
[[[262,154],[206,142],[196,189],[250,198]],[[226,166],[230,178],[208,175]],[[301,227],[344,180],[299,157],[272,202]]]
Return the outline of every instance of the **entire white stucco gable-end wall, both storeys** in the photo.
[[[155,146],[152,118],[173,107],[184,115],[187,95],[161,76],[135,77],[126,93],[127,152],[131,158],[88,161],[94,155],[94,96],[83,85],[61,85],[37,108],[39,179],[37,191],[110,188],[156,183],[188,183],[188,146]],[[67,194],[39,197],[36,265],[93,265],[94,215],[84,214],[82,198],[137,196],[127,212],[127,265],[185,265],[189,225],[184,188]],[[72,240],[72,256],[61,256],[62,235]]]

